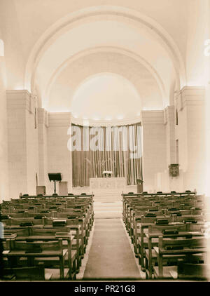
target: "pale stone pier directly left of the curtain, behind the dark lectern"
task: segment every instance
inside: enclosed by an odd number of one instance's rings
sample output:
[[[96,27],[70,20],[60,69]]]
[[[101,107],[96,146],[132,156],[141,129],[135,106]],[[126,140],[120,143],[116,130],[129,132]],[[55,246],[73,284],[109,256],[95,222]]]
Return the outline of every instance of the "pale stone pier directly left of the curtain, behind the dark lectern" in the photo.
[[[48,124],[48,173],[62,173],[62,181],[68,182],[68,190],[71,192],[71,152],[67,147],[71,113],[49,113]],[[53,188],[52,182],[48,181],[47,193],[52,194]]]

